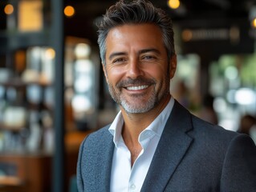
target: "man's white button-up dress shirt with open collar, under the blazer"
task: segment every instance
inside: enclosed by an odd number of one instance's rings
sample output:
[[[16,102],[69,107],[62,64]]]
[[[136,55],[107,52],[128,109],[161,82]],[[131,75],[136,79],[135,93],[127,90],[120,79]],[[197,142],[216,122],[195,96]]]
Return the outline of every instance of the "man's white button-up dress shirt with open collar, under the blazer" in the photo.
[[[173,110],[173,104],[174,99],[172,97],[161,114],[140,133],[138,140],[142,150],[132,167],[131,154],[121,134],[124,119],[121,112],[116,115],[112,125],[109,127],[116,146],[112,161],[110,191],[140,191],[169,114]]]

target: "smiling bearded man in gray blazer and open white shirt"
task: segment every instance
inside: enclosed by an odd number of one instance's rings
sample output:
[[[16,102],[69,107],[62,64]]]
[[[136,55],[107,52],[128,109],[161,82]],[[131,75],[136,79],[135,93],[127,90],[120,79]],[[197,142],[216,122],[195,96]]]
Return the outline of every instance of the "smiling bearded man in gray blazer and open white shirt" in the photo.
[[[177,58],[168,15],[148,1],[120,1],[98,32],[120,112],[81,144],[79,192],[255,191],[254,142],[193,116],[169,92]]]

